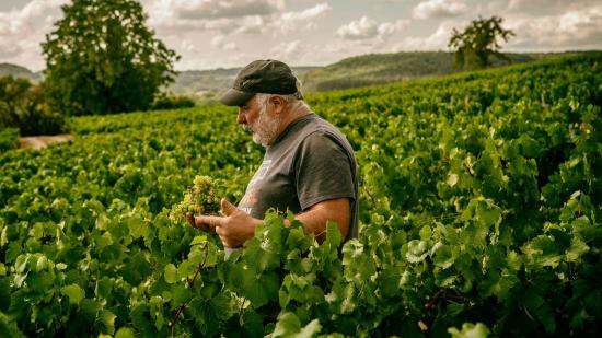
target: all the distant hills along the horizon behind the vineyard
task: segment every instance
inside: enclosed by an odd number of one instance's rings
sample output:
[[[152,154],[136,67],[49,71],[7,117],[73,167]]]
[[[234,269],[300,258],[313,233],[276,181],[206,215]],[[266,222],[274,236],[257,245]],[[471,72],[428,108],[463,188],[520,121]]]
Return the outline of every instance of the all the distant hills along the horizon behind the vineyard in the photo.
[[[520,63],[564,54],[566,53],[509,54],[509,56],[513,63]],[[293,71],[301,78],[304,92],[321,92],[445,75],[454,72],[452,62],[452,54],[445,51],[404,51],[356,56],[326,67],[293,67]],[[506,62],[497,61],[495,65],[506,65]],[[239,67],[182,71],[164,90],[195,96],[199,102],[211,102],[232,85],[240,70]],[[42,79],[42,72],[32,72],[16,65],[0,63],[0,77],[9,74],[34,82]]]

